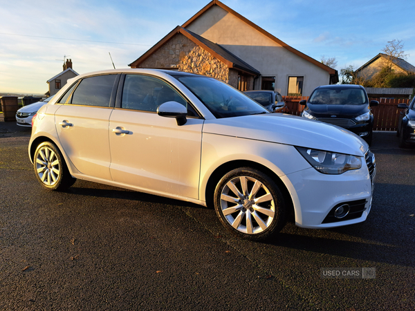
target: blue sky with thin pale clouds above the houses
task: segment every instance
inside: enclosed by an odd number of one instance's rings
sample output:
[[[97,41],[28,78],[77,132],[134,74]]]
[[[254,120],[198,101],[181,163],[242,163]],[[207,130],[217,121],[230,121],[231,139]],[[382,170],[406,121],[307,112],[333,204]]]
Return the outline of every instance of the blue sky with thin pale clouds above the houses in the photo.
[[[209,0],[0,0],[0,93],[44,94],[62,72],[129,68]],[[402,40],[415,66],[414,0],[221,0],[300,52],[357,69]]]

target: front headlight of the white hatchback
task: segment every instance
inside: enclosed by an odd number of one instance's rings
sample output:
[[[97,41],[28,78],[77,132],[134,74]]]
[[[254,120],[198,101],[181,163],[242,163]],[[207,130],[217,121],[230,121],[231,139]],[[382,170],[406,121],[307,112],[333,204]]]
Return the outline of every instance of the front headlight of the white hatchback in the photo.
[[[362,167],[362,159],[358,156],[304,147],[295,148],[320,173],[341,174]]]

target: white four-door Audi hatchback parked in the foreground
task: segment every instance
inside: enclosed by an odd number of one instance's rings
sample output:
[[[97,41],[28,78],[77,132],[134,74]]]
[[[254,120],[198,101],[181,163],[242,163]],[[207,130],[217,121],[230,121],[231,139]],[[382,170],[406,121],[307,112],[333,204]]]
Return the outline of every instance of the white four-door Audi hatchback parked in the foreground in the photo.
[[[360,223],[376,175],[366,142],[269,113],[216,79],[173,70],[79,75],[33,117],[28,146],[45,189],[75,178],[214,206],[241,238]]]

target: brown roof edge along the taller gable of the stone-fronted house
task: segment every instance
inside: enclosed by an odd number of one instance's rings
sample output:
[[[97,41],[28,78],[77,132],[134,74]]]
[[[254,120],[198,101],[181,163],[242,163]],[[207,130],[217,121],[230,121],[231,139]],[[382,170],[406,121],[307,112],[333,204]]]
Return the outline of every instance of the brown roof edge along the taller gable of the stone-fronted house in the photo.
[[[322,64],[322,62],[318,62],[316,59],[313,59],[312,57],[309,57],[308,55],[305,55],[304,53],[301,53],[299,50],[296,50],[295,48],[293,48],[291,46],[288,46],[288,44],[284,43],[283,41],[281,41],[277,37],[271,35],[269,32],[267,32],[263,28],[259,27],[255,23],[252,23],[252,21],[246,19],[245,17],[243,17],[239,13],[235,12],[234,10],[232,10],[231,8],[229,8],[228,6],[225,6],[225,4],[221,3],[221,1],[219,1],[219,0],[212,0],[210,3],[208,3],[207,6],[205,6],[199,12],[197,12],[196,15],[194,15],[188,21],[186,21],[185,23],[183,23],[182,27],[183,28],[186,28],[187,26],[189,26],[194,20],[196,20],[201,15],[203,15],[204,12],[206,12],[207,10],[209,10],[210,8],[212,8],[212,6],[219,6],[223,10],[225,10],[225,11],[229,12],[230,14],[234,15],[235,17],[241,19],[241,21],[244,21],[245,23],[247,23],[252,28],[255,28],[256,30],[258,30],[259,32],[261,32],[263,35],[265,35],[266,37],[268,37],[269,39],[275,41],[277,44],[279,44],[283,48],[286,48],[286,50],[289,50],[291,53],[294,53],[295,55],[297,55],[299,57],[302,57],[303,59],[306,59],[306,61],[311,62],[315,66],[318,66],[318,67],[322,68],[323,70],[326,70],[331,75],[332,82],[333,83],[337,83],[338,82],[338,71],[337,70],[335,70],[333,68],[330,68],[329,66],[326,66],[326,65]]]

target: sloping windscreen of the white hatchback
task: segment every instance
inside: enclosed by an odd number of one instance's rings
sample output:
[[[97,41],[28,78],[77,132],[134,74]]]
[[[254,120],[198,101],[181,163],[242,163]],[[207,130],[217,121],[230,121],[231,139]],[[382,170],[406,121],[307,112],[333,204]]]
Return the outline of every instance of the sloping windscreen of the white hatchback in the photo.
[[[205,104],[216,118],[268,113],[237,89],[210,77],[176,77]]]

